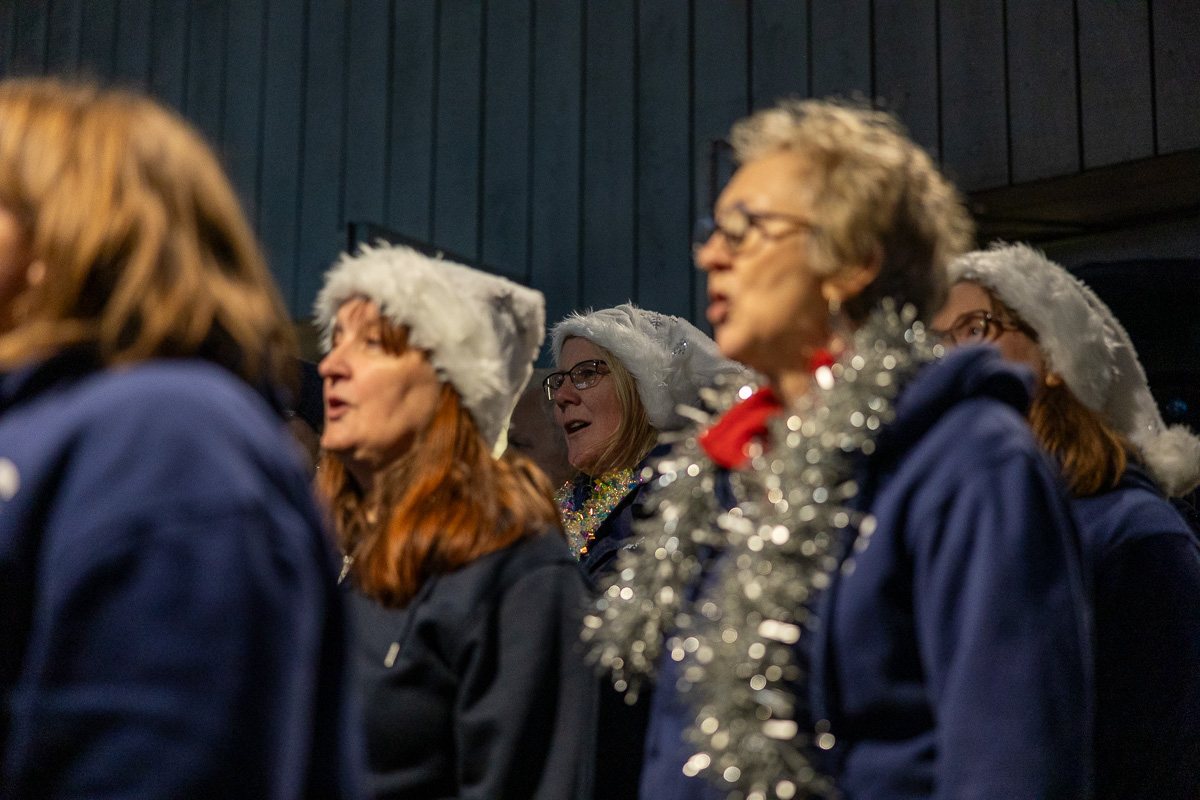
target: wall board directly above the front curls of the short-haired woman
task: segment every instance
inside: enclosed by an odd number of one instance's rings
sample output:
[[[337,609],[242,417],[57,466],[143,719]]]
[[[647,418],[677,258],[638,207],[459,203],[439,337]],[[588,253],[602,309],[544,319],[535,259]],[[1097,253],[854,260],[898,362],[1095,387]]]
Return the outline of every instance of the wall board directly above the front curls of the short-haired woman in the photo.
[[[798,95],[808,97],[809,17],[800,0],[750,4],[750,94],[755,108]]]

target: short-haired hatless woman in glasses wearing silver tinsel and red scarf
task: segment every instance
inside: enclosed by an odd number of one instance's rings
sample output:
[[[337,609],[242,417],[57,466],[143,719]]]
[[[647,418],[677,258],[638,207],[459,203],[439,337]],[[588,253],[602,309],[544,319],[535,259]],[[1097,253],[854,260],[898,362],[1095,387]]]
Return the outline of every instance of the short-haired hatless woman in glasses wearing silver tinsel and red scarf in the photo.
[[[1088,796],[1069,510],[1018,372],[925,327],[958,192],[872,109],[784,101],[731,140],[696,263],[767,385],[656,462],[584,620],[614,688],[653,687],[638,796]]]

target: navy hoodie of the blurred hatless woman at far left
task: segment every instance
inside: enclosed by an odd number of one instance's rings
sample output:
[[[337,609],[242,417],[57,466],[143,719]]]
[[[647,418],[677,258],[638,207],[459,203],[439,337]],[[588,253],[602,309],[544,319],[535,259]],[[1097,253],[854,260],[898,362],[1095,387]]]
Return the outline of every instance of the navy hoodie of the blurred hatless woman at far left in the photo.
[[[360,796],[295,445],[202,361],[0,379],[0,798]]]

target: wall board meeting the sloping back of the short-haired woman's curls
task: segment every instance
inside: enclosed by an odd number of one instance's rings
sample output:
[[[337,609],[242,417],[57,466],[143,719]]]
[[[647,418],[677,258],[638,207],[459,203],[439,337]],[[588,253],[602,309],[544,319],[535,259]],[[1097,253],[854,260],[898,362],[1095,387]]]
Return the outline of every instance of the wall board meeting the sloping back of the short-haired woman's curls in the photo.
[[[936,160],[937,6],[929,0],[875,0],[875,96]]]

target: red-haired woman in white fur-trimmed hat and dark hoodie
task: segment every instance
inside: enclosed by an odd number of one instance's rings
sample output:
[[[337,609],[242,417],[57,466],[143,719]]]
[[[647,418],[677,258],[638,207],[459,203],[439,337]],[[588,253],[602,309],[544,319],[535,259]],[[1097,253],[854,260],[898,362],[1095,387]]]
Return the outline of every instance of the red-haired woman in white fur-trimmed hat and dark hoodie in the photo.
[[[584,579],[546,477],[500,456],[541,294],[404,247],[329,272],[328,498],[353,588],[376,798],[586,796]]]

